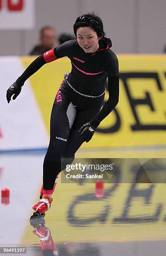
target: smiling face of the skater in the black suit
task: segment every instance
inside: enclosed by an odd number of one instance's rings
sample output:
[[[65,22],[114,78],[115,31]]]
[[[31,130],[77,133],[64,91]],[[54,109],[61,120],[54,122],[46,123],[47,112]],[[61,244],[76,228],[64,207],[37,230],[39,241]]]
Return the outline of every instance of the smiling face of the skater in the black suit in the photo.
[[[80,27],[77,29],[77,41],[86,53],[93,53],[99,49],[99,40],[96,31],[91,27]]]

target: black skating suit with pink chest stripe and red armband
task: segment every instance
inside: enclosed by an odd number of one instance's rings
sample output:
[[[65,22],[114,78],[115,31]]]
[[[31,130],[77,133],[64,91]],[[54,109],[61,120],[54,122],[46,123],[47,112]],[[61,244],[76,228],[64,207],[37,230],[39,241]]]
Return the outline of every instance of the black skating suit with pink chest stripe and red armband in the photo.
[[[43,164],[43,187],[51,190],[60,172],[61,158],[74,158],[81,146],[80,127],[90,121],[95,128],[115,108],[119,98],[117,57],[109,38],[99,40],[99,49],[87,54],[77,40],[67,41],[34,60],[17,79],[22,84],[44,64],[67,56],[72,71],[65,76],[51,111],[50,143]],[[109,99],[103,106],[108,77]]]

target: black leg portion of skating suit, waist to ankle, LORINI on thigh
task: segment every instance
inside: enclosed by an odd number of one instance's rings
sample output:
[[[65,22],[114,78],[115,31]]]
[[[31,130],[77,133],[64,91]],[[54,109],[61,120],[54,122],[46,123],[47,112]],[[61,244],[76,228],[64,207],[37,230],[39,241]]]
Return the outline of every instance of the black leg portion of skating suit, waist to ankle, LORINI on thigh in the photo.
[[[78,131],[97,115],[103,100],[104,95],[89,98],[59,89],[51,111],[50,142],[43,163],[44,190],[52,190],[57,174],[74,160],[76,151],[82,145]],[[69,160],[61,164],[61,159]]]

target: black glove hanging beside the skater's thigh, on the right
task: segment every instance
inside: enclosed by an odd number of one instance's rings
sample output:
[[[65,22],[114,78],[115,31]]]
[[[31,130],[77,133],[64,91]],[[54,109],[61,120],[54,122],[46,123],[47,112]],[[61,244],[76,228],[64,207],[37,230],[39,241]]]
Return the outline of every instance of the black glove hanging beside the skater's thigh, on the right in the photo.
[[[81,142],[89,142],[95,132],[96,128],[94,128],[90,122],[85,123],[79,130],[79,140]]]

